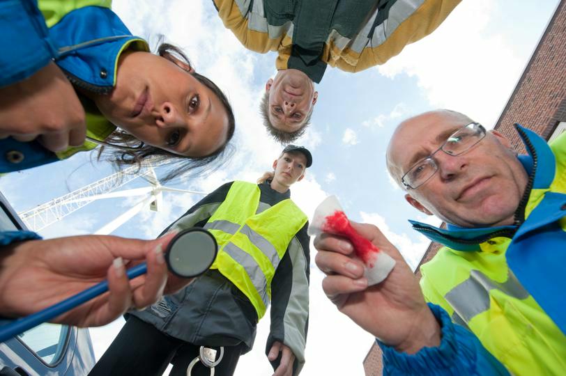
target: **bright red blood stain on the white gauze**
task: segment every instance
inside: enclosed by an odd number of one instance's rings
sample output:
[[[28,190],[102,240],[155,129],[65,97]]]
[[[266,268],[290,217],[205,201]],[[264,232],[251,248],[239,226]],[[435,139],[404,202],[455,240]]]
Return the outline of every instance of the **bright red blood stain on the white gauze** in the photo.
[[[358,231],[354,230],[344,212],[336,210],[334,214],[326,217],[323,231],[346,237],[352,243],[356,256],[361,258],[365,265],[374,267],[374,261],[379,249],[372,242],[358,234]]]

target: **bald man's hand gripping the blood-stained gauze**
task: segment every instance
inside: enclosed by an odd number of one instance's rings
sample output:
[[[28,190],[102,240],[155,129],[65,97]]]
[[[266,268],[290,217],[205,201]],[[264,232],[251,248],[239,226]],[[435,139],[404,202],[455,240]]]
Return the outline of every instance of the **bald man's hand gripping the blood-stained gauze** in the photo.
[[[327,274],[322,287],[328,298],[362,329],[401,352],[414,354],[423,346],[438,346],[440,326],[399,251],[376,226],[352,226],[397,264],[383,282],[368,288],[364,265],[354,258],[349,241],[330,234],[316,237],[315,262]]]

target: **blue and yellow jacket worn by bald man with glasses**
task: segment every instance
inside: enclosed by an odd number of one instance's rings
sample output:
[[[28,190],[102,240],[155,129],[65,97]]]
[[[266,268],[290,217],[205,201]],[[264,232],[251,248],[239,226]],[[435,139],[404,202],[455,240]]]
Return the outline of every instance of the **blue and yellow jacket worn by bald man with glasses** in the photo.
[[[529,180],[512,226],[441,229],[411,222],[444,245],[421,267],[422,291],[438,304],[431,310],[443,339],[440,347],[414,355],[380,344],[385,374],[553,375],[566,369],[566,134],[549,146],[530,130],[517,126],[517,132],[528,150],[519,159]]]

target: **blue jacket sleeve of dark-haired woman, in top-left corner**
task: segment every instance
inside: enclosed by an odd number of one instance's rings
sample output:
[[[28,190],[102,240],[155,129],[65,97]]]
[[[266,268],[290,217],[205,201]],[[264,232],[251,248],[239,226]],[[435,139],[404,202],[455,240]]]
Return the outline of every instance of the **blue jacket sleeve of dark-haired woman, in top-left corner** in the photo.
[[[0,1],[0,87],[22,81],[56,58],[37,1]]]

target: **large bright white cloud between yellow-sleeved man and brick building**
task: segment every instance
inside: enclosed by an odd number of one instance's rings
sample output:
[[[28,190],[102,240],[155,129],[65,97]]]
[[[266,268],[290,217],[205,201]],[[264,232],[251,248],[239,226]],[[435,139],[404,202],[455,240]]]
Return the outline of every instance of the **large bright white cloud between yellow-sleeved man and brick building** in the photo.
[[[487,31],[496,6],[489,0],[462,1],[434,33],[376,69],[390,78],[416,77],[433,107],[493,124],[523,68],[510,41]]]

